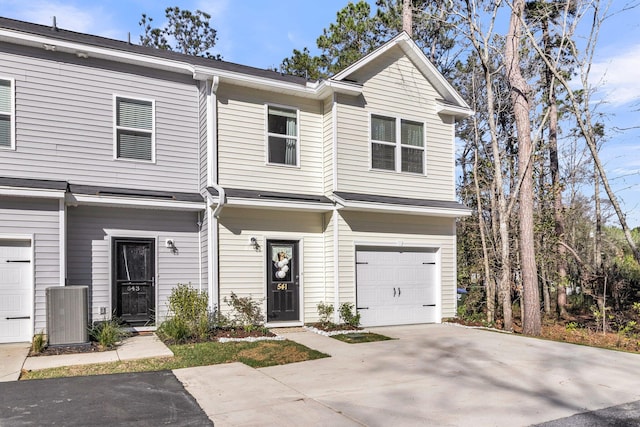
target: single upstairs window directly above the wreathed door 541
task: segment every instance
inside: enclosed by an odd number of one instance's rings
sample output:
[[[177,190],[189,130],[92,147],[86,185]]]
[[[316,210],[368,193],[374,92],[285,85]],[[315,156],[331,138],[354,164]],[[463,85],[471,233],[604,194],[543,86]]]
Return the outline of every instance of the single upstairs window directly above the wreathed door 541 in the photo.
[[[267,107],[268,163],[298,165],[298,112],[282,107]]]

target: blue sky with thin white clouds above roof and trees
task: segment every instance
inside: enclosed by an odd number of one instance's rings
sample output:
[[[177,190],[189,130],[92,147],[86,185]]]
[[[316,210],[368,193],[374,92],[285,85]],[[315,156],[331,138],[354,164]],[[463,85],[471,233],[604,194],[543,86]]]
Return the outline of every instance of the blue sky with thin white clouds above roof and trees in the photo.
[[[167,6],[200,9],[218,31],[214,48],[225,61],[273,68],[293,49],[308,47],[335,22],[348,0],[0,0],[0,15],[137,42],[143,13],[164,21]],[[628,0],[612,0],[611,12]],[[373,6],[375,0],[368,0]],[[0,64],[0,68],[1,68]],[[614,14],[601,29],[592,83],[594,107],[609,138],[600,155],[631,227],[640,226],[640,7]],[[597,105],[596,105],[597,104]],[[606,197],[604,192],[603,197]],[[611,222],[615,224],[615,222]]]

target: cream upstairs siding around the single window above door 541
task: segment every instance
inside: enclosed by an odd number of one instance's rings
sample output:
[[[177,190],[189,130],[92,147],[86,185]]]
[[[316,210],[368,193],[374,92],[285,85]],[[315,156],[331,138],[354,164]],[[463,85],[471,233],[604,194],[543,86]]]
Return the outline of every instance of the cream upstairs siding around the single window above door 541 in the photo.
[[[322,110],[320,101],[240,86],[221,85],[218,98],[218,167],[223,187],[322,194]],[[298,167],[274,167],[265,160],[265,105],[298,109]]]

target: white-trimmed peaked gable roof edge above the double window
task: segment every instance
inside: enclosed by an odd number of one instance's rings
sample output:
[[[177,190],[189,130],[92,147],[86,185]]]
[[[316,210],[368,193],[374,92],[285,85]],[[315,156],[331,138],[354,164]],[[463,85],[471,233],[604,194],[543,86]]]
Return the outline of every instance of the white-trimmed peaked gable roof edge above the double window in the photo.
[[[387,55],[394,48],[402,49],[403,53],[413,62],[422,75],[431,83],[435,90],[442,96],[438,105],[438,112],[451,114],[458,117],[466,117],[473,114],[473,110],[456,91],[453,86],[429,61],[424,52],[411,39],[409,34],[401,32],[387,43],[374,50],[370,54],[360,58],[344,70],[334,75],[330,80],[336,82],[348,81],[349,77],[357,71],[371,64],[376,59]]]

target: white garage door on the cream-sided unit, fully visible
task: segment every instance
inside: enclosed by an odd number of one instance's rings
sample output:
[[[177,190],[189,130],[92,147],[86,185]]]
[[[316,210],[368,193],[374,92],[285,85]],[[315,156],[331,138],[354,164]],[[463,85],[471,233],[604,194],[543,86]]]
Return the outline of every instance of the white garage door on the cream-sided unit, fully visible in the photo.
[[[436,322],[435,252],[358,250],[356,301],[363,326]]]

